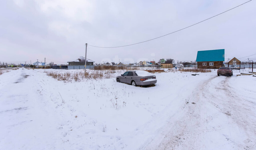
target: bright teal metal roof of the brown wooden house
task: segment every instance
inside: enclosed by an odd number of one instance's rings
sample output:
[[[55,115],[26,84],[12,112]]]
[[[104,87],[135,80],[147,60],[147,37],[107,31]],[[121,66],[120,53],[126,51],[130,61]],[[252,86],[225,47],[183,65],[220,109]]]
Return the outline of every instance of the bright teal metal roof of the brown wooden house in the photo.
[[[196,61],[224,61],[225,49],[197,51]]]

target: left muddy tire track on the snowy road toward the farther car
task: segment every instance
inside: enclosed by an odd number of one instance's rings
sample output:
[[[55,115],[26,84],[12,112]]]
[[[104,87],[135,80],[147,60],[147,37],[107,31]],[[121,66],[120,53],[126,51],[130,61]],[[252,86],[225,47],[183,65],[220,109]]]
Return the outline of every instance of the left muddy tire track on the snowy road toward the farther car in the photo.
[[[196,136],[196,133],[190,132],[190,127],[196,127],[199,125],[200,121],[195,121],[195,119],[200,120],[200,104],[199,100],[202,97],[200,93],[202,89],[209,83],[212,79],[204,81],[201,85],[197,87],[187,98],[187,104],[182,106],[174,116],[170,118],[168,124],[160,131],[160,138],[162,135],[162,141],[151,141],[146,147],[142,149],[191,149],[190,144],[184,143],[189,137]],[[198,91],[198,89],[200,89]],[[194,102],[195,104],[192,104]],[[197,113],[199,112],[199,113]],[[167,131],[166,131],[167,129]],[[159,138],[158,137],[158,138]],[[156,146],[157,144],[157,146]]]

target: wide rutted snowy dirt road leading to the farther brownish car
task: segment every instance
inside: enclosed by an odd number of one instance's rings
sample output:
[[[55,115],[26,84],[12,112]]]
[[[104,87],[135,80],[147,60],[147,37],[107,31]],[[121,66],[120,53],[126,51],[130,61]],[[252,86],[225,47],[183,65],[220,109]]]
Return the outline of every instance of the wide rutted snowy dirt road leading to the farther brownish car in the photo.
[[[245,96],[231,82],[234,77],[216,76],[196,87],[181,111],[142,149],[255,149],[255,93]]]

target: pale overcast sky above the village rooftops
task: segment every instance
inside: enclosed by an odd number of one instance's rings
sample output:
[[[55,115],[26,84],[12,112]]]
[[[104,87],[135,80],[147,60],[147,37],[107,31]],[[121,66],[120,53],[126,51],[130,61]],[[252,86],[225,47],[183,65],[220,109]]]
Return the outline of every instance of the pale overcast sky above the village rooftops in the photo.
[[[152,39],[197,23],[248,0],[23,1],[0,5],[0,62],[54,61],[85,56],[85,43],[112,47]],[[120,47],[87,47],[100,63],[171,58],[196,60],[197,51],[225,49],[225,59],[256,53],[256,1],[151,40]],[[256,55],[249,58],[255,58]],[[28,63],[28,62],[27,62]]]

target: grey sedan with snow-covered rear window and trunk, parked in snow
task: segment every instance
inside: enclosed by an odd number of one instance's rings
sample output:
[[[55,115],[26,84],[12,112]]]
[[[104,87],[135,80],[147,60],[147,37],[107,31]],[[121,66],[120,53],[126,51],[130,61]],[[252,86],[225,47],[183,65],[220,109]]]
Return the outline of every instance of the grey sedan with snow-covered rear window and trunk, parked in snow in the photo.
[[[116,77],[117,82],[128,83],[133,86],[137,85],[151,85],[156,83],[156,76],[144,71],[144,70],[133,70],[127,71],[121,76]]]

